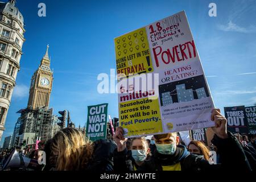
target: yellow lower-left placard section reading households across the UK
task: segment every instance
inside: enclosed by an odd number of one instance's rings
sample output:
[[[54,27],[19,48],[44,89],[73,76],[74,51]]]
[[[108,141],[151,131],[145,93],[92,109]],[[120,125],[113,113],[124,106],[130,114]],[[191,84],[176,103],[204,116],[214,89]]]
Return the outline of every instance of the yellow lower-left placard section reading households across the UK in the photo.
[[[163,132],[158,100],[119,102],[119,118],[126,137]]]

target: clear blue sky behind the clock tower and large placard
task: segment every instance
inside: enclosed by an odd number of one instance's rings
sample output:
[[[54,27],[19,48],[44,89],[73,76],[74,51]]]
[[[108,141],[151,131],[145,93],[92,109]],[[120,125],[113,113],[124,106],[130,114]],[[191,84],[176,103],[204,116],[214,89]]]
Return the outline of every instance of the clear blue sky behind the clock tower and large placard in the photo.
[[[38,4],[46,3],[46,17]],[[217,17],[208,15],[209,3]],[[185,10],[214,104],[256,103],[256,1],[45,1],[22,0],[16,6],[26,23],[26,42],[3,138],[13,133],[25,108],[32,74],[49,44],[54,69],[50,107],[71,111],[85,125],[88,105],[108,102],[118,117],[117,94],[98,94],[97,75],[115,68],[114,38]],[[3,140],[1,141],[3,143]]]

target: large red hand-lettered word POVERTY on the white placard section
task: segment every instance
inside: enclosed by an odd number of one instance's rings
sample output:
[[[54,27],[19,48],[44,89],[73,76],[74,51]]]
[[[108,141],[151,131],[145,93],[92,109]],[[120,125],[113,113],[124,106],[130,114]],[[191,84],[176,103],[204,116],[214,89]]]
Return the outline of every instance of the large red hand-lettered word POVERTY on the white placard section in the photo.
[[[153,48],[153,52],[156,67],[159,67],[159,59],[162,60],[164,64],[169,64],[171,61],[175,63],[175,61],[190,59],[192,56],[196,57],[196,46],[194,40],[192,40],[192,42],[189,41],[184,44],[179,44],[179,46],[174,46],[171,50],[167,49],[166,51],[163,51],[162,47],[158,46]]]

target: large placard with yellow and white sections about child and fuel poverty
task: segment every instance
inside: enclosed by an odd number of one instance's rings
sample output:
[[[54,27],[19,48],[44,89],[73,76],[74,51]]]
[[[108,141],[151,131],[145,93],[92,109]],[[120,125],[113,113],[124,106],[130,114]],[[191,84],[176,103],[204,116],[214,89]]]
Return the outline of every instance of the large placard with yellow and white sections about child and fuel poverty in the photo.
[[[214,126],[212,97],[184,11],[114,41],[120,126],[128,137]]]

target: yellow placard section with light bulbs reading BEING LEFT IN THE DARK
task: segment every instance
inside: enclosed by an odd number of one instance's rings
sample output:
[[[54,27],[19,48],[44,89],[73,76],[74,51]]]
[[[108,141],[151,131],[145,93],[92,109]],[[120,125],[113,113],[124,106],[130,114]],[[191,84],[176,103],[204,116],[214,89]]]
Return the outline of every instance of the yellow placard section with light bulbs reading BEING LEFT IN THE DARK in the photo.
[[[114,42],[118,77],[153,71],[146,28],[119,36]]]

